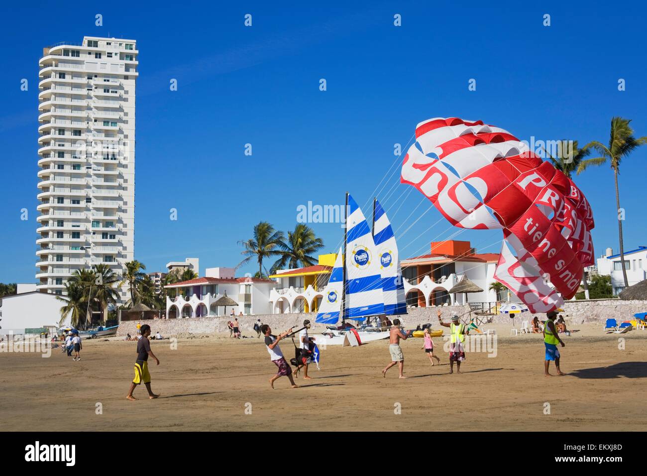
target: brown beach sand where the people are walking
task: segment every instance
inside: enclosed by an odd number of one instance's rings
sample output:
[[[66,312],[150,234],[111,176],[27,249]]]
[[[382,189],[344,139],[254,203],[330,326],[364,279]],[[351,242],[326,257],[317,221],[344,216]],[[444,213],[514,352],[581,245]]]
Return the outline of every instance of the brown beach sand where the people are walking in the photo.
[[[497,356],[468,353],[449,375],[443,339],[434,339],[443,365],[431,367],[422,339],[402,343],[406,380],[389,363],[388,341],[359,348],[322,349],[313,380],[291,389],[276,372],[262,339],[223,336],[151,341],[161,363],[149,360],[153,391],[144,386],[126,400],[133,378],[135,342],[83,341],[82,361],[58,349],[40,354],[0,354],[0,418],[12,431],[254,431],[254,430],[644,430],[641,400],[647,382],[647,331],[602,334],[579,326],[564,336],[564,377],[543,376],[541,335],[510,337],[498,330]],[[578,326],[574,326],[577,328]],[[279,331],[278,329],[275,331]],[[277,332],[278,334],[278,332]],[[619,349],[624,337],[624,350]],[[290,339],[281,341],[289,359]],[[554,367],[551,365],[554,372]],[[97,414],[97,403],[102,414]],[[546,403],[550,414],[545,414]],[[247,409],[247,413],[246,413]],[[398,412],[397,410],[400,409]],[[251,414],[248,414],[250,413]],[[63,418],[73,416],[73,418]]]

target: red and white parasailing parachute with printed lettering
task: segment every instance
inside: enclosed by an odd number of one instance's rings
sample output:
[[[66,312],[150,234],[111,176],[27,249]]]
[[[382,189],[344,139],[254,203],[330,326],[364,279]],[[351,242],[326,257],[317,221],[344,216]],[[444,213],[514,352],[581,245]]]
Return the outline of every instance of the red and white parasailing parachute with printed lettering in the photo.
[[[426,120],[415,137],[400,181],[456,227],[502,229],[494,277],[531,312],[571,299],[584,266],[593,264],[593,212],[575,183],[508,131],[480,120]]]

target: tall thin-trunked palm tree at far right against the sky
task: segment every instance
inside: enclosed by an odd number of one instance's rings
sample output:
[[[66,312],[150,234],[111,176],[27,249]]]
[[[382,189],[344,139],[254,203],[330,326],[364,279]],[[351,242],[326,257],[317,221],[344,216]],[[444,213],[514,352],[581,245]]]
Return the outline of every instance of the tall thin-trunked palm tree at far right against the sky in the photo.
[[[624,278],[624,287],[629,287],[627,279],[627,269],[624,266],[624,245],[622,244],[622,220],[624,216],[620,214],[620,192],[618,190],[618,174],[620,174],[620,162],[627,157],[633,150],[647,144],[647,136],[636,139],[633,137],[633,129],[629,125],[630,119],[622,117],[613,117],[611,119],[611,133],[609,135],[609,144],[604,145],[602,142],[593,141],[586,144],[586,148],[591,148],[600,154],[600,157],[586,159],[580,163],[577,173],[581,174],[590,166],[599,166],[609,162],[613,170],[613,180],[615,183],[615,203],[618,209],[618,236],[620,240],[620,265],[622,266],[622,277]]]

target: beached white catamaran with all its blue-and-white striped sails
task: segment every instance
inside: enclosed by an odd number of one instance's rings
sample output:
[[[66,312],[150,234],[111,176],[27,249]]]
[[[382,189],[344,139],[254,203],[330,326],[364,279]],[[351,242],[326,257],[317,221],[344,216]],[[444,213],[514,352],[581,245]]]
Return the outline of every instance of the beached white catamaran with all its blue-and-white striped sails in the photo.
[[[373,227],[369,229],[360,207],[346,194],[344,244],[323,291],[315,322],[327,324],[326,332],[313,335],[319,346],[350,345],[385,339],[383,323],[389,315],[406,313],[404,282],[393,229],[384,209],[373,201]],[[347,258],[348,257],[348,258]],[[373,326],[356,328],[347,320]],[[339,321],[341,326],[337,326]]]

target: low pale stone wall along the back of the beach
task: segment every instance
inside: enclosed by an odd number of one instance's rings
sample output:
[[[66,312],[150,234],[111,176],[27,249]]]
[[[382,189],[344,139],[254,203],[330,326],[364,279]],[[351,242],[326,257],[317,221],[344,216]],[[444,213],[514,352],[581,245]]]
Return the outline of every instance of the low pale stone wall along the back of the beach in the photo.
[[[430,308],[413,308],[408,315],[404,315],[401,321],[408,327],[415,327],[417,324],[437,324],[436,313],[441,310],[444,321],[449,321],[452,314],[465,315],[468,306],[445,306]],[[597,299],[597,300],[575,300],[567,301],[564,304],[564,312],[567,323],[580,324],[604,323],[606,319],[613,318],[618,321],[630,320],[637,312],[647,312],[647,301],[644,300],[619,300],[619,299]],[[531,319],[532,315],[524,313],[524,319]],[[526,317],[527,316],[527,317]],[[466,317],[466,316],[465,316]],[[538,315],[545,319],[545,314]],[[194,317],[190,319],[155,319],[152,321],[124,321],[120,323],[117,335],[137,333],[137,323],[149,324],[153,334],[158,330],[164,337],[183,336],[189,334],[214,334],[216,332],[228,332],[227,321],[230,317]],[[294,314],[269,314],[238,317],[239,327],[246,335],[252,335],[256,319],[261,319],[263,324],[270,324],[272,332],[283,332],[284,330],[302,326],[303,319],[313,321],[313,332],[320,332],[323,326],[314,324],[314,313]],[[507,315],[492,316],[493,323],[509,323]]]

